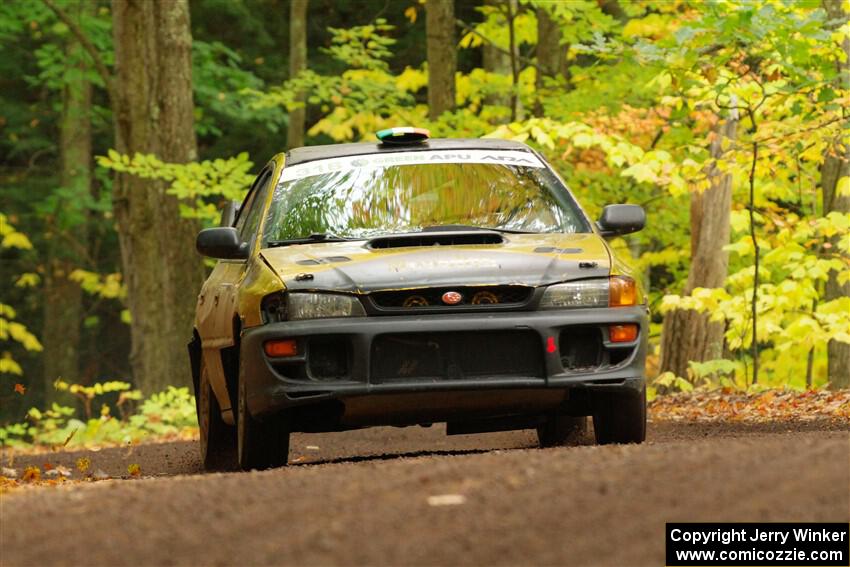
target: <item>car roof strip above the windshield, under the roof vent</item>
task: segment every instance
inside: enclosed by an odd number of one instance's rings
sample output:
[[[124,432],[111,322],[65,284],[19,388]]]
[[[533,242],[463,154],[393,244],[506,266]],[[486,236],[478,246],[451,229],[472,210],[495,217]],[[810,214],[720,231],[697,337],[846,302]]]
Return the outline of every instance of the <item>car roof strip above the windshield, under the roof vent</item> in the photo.
[[[358,156],[364,154],[383,154],[394,152],[424,152],[428,150],[525,150],[531,148],[522,142],[499,140],[495,138],[433,138],[414,144],[382,144],[380,142],[362,142],[357,144],[329,144],[326,146],[305,146],[286,152],[286,165],[296,165],[308,161],[337,157]]]

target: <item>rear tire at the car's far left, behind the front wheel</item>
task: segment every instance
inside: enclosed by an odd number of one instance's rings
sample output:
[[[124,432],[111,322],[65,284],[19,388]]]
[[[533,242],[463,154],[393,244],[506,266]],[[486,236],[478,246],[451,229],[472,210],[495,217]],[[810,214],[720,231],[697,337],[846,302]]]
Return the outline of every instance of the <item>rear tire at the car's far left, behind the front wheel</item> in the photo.
[[[224,471],[236,468],[236,428],[221,419],[221,408],[213,394],[203,359],[197,396],[201,463],[204,470]]]

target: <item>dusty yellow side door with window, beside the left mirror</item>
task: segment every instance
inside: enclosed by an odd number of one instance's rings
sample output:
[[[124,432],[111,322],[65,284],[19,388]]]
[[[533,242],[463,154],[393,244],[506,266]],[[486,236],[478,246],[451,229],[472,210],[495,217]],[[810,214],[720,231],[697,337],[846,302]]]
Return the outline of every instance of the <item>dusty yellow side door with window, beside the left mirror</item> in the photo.
[[[265,196],[271,185],[273,168],[266,167],[257,176],[239,209],[234,226],[253,253]],[[222,418],[233,423],[233,412],[221,359],[221,349],[236,344],[234,318],[236,298],[245,277],[247,260],[219,260],[198,296],[196,328],[201,338],[204,367],[222,410]]]

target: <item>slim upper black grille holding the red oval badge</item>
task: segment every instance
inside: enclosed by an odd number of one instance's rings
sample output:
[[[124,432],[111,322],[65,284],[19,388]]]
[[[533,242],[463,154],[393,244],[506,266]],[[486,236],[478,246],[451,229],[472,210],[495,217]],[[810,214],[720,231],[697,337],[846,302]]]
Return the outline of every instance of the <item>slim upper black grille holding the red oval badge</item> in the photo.
[[[443,294],[454,291],[461,295],[459,303],[447,305]],[[401,291],[376,291],[370,294],[378,309],[416,311],[423,308],[475,308],[492,306],[518,307],[531,298],[533,288],[522,285],[440,287],[407,289]]]

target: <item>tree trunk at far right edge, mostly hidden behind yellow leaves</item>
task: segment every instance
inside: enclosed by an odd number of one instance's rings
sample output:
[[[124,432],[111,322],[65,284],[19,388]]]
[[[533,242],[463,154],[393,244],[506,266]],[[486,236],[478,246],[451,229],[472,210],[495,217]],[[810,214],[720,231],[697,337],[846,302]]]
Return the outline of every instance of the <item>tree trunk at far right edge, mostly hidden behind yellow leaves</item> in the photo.
[[[850,14],[842,8],[841,0],[824,0],[823,7],[832,21],[847,22]],[[840,88],[850,91],[850,38],[844,38],[844,61],[839,63]],[[832,211],[839,213],[850,212],[850,195],[838,195],[836,188],[838,180],[850,175],[850,149],[836,140],[824,156],[821,166],[821,187],[823,189],[823,214]],[[832,249],[841,253],[837,242],[833,241]],[[839,297],[850,295],[850,282],[843,286],[838,284],[838,274],[832,271],[826,282],[826,301],[832,301]],[[829,341],[827,344],[827,363],[829,375],[829,387],[835,390],[850,388],[850,345],[838,341]]]

